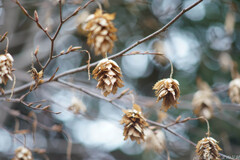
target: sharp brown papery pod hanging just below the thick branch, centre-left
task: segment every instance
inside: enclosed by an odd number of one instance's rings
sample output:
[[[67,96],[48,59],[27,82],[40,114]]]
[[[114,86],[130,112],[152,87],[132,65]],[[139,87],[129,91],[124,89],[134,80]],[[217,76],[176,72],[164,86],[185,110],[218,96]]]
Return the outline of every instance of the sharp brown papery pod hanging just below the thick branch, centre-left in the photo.
[[[124,86],[121,80],[121,69],[113,60],[107,58],[101,60],[92,74],[93,78],[98,81],[97,88],[102,90],[105,97],[110,93],[115,94],[118,87]]]

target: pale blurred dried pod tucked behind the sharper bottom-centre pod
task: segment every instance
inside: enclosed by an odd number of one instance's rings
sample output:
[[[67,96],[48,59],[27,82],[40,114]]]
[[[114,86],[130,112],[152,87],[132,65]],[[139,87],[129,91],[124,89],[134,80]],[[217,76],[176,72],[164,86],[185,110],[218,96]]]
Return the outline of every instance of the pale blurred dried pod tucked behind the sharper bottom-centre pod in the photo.
[[[165,149],[165,135],[163,131],[152,131],[147,128],[145,130],[145,148],[147,150],[154,150],[157,153],[161,153]]]

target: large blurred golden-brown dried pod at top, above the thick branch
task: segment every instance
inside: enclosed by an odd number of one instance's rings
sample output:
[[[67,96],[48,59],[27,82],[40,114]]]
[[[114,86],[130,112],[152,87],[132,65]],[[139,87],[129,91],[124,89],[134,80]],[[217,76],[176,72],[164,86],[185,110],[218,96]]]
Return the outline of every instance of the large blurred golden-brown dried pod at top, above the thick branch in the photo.
[[[104,57],[107,52],[112,52],[114,41],[117,40],[117,29],[112,23],[114,18],[115,14],[103,13],[98,9],[86,20],[84,29],[89,32],[87,43],[94,48],[96,55],[102,54]]]

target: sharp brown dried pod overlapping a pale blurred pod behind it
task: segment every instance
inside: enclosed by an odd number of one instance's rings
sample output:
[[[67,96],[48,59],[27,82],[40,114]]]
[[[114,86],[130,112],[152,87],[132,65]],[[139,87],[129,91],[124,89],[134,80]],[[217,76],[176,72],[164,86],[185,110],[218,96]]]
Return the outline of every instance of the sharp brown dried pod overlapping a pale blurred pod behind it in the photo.
[[[123,110],[125,113],[120,121],[121,124],[125,124],[124,126],[124,140],[127,140],[128,137],[132,141],[137,141],[140,144],[140,141],[144,141],[144,128],[148,126],[145,118],[142,115],[142,110],[139,105],[134,104],[133,109]]]

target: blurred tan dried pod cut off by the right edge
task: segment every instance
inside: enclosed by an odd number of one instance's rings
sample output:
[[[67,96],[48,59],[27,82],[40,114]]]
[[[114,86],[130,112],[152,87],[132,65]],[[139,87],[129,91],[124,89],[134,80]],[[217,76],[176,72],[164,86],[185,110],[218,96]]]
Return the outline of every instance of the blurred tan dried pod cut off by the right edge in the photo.
[[[240,104],[240,78],[236,78],[229,83],[228,95],[233,103]]]

